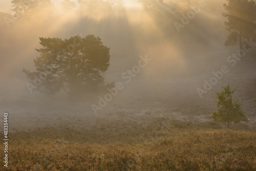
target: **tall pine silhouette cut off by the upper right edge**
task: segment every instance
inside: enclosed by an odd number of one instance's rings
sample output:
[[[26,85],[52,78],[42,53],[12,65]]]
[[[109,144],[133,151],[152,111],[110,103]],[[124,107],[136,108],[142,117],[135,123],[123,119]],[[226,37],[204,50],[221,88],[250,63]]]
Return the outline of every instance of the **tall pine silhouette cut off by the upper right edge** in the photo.
[[[256,3],[253,0],[227,0],[224,4],[227,18],[224,23],[229,32],[225,46],[236,45],[239,40],[240,49],[243,48],[243,39],[255,37],[253,33],[256,27]]]

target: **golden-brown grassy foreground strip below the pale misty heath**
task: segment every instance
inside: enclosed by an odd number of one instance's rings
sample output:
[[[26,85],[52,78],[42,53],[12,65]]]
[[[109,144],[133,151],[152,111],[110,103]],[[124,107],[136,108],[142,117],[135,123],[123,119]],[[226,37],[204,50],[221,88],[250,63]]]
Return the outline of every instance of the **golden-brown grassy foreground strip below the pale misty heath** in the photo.
[[[140,133],[151,138],[147,142],[131,134],[117,141],[55,127],[12,133],[8,168],[1,162],[1,170],[256,170],[254,131],[197,127]]]

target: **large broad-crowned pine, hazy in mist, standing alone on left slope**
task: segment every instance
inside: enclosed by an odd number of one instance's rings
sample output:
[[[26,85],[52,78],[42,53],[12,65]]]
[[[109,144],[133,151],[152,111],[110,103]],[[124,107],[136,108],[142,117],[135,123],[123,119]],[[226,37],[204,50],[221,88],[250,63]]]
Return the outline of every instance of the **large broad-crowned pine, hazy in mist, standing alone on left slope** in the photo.
[[[110,48],[94,35],[69,39],[42,38],[36,49],[35,72],[23,72],[36,83],[37,90],[55,94],[65,90],[71,97],[93,92],[105,86],[104,73],[109,68]]]

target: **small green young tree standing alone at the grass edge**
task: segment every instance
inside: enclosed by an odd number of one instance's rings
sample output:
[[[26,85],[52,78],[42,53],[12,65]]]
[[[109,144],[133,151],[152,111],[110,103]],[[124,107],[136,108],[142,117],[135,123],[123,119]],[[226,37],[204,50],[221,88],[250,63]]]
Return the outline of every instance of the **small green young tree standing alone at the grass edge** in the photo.
[[[233,122],[233,126],[240,121],[248,121],[244,111],[241,109],[240,99],[232,101],[232,94],[236,89],[231,90],[229,85],[222,87],[223,92],[217,92],[217,98],[219,99],[217,103],[217,111],[209,111],[212,115],[210,119],[219,122],[227,122],[227,127]]]

